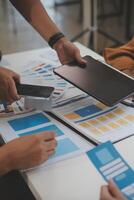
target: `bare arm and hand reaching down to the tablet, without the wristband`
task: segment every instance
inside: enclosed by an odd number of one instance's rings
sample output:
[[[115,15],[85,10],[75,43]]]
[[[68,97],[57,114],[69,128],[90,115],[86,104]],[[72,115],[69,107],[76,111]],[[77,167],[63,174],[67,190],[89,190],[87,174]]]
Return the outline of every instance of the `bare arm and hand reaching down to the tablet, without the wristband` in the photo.
[[[40,0],[10,1],[47,42],[53,35],[60,32],[59,28],[47,14]],[[62,64],[68,63],[73,59],[76,59],[80,63],[85,63],[80,56],[78,48],[66,37],[58,40],[53,48],[57,51]]]

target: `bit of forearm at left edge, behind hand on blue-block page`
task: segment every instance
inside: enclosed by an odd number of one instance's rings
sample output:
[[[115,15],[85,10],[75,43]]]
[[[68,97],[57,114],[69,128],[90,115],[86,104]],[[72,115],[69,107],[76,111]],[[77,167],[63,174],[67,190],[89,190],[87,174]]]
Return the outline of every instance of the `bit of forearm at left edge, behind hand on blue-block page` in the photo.
[[[11,169],[10,158],[4,145],[0,147],[0,176],[8,173]]]

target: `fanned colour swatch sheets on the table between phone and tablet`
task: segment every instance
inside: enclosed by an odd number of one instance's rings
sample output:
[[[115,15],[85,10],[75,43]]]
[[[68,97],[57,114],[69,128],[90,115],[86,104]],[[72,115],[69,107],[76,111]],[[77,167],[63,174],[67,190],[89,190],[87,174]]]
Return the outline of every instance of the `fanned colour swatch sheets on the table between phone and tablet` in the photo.
[[[21,72],[21,80],[23,83],[36,84],[43,86],[53,86],[53,99],[60,98],[68,87],[67,81],[56,76],[53,69],[57,64],[46,60],[46,62],[39,62],[35,66],[28,68]]]

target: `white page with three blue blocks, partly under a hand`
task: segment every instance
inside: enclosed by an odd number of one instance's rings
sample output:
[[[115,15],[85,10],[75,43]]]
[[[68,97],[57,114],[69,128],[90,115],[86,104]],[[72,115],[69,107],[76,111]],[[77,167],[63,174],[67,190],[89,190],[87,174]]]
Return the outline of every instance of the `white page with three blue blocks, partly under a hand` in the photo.
[[[69,128],[43,112],[35,111],[2,119],[0,127],[6,141],[17,137],[38,134],[42,131],[55,132],[57,140],[55,154],[41,166],[47,166],[60,160],[78,156],[92,148],[87,141],[81,139],[80,136],[74,134]]]

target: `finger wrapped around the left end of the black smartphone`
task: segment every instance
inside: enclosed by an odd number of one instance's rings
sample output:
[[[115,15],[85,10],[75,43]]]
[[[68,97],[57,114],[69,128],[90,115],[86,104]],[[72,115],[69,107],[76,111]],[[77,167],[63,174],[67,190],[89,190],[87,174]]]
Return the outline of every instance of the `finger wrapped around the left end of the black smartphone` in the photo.
[[[17,93],[15,82],[12,78],[10,79],[9,94],[14,101],[20,98]]]

